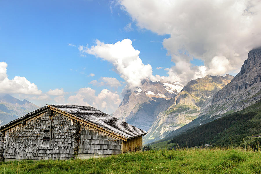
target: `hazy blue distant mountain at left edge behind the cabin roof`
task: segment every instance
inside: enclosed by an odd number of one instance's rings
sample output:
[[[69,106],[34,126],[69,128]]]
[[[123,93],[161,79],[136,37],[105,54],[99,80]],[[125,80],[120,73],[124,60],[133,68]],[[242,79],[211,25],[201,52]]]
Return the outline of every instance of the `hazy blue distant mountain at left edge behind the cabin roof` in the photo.
[[[27,100],[21,101],[9,94],[0,97],[0,126],[39,108]]]

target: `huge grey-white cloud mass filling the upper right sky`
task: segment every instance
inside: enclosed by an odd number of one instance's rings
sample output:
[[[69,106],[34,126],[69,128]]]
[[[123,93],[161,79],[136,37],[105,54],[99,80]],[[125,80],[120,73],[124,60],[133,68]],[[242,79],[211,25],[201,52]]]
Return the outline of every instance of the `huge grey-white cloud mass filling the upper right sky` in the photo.
[[[249,50],[260,46],[260,0],[119,0],[119,3],[139,28],[170,35],[163,41],[175,62],[168,74],[174,73],[183,83],[206,73],[239,71]],[[190,61],[194,57],[204,61],[204,66],[193,66]]]

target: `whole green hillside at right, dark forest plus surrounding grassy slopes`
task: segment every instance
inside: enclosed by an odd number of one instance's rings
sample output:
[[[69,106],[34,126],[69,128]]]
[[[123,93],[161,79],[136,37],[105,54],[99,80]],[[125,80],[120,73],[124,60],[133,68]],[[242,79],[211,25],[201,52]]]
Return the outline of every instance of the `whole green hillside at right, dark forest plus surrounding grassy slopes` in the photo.
[[[225,114],[224,114],[225,115]],[[220,116],[215,116],[220,117]],[[213,119],[213,118],[212,118]],[[175,132],[175,131],[174,131]],[[169,139],[150,145],[151,148],[175,148],[215,144],[215,146],[258,146],[261,142],[252,135],[261,134],[261,101],[236,113],[228,114],[220,119],[190,128]],[[168,144],[168,145],[167,145]]]

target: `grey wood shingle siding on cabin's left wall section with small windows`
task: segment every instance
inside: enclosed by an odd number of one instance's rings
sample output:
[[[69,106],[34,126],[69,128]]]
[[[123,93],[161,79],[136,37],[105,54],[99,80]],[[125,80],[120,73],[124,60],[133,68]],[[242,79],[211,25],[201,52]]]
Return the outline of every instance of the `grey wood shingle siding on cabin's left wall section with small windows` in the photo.
[[[4,157],[28,160],[65,160],[74,157],[73,120],[53,113],[42,113],[5,131]],[[49,130],[45,132],[44,130]],[[48,137],[50,141],[43,141]]]

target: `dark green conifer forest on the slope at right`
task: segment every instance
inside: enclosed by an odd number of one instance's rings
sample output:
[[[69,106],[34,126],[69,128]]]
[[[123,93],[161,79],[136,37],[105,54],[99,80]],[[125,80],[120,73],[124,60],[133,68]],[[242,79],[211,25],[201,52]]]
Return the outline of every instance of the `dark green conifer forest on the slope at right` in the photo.
[[[243,138],[260,133],[258,125],[251,120],[255,117],[255,113],[231,114],[222,117],[210,123],[191,128],[182,133],[168,143],[175,143],[175,146],[194,147],[204,144],[215,144],[215,146],[229,146],[233,143],[240,146]]]

